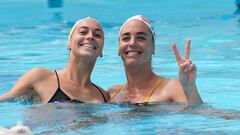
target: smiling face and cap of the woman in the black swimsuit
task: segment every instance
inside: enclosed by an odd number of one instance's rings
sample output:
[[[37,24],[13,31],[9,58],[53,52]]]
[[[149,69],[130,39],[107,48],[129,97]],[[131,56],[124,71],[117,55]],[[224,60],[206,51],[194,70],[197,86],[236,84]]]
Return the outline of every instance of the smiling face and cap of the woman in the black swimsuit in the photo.
[[[69,39],[69,48],[74,56],[97,58],[102,55],[104,43],[100,24],[91,18],[81,20]]]

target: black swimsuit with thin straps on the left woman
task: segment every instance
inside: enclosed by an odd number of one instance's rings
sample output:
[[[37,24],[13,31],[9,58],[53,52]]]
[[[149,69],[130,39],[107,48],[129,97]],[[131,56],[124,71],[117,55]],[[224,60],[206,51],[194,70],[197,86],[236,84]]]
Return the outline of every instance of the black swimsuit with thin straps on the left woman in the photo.
[[[56,73],[56,76],[57,76],[57,81],[58,81],[58,88],[56,90],[56,92],[53,94],[53,96],[51,97],[51,99],[48,101],[48,103],[51,103],[51,102],[64,102],[64,101],[68,101],[68,102],[77,102],[77,103],[84,103],[83,101],[79,101],[79,100],[76,100],[76,99],[71,99],[68,95],[66,95],[63,90],[61,90],[60,88],[60,81],[59,81],[59,77],[58,77],[58,74],[57,74],[57,71],[54,71]],[[94,83],[92,83],[96,88],[97,90],[102,94],[103,96],[103,99],[104,99],[104,102],[107,102],[106,98],[104,97],[104,94],[103,92],[101,91],[100,88],[98,88]]]

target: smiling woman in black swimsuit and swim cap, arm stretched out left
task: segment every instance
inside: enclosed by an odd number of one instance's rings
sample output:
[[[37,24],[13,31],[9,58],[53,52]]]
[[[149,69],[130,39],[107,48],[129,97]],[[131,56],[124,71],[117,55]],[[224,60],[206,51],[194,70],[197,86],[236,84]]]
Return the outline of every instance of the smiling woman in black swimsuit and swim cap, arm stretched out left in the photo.
[[[108,94],[90,79],[97,57],[102,56],[103,45],[103,29],[95,19],[77,21],[69,34],[67,66],[55,71],[44,68],[28,71],[0,100],[27,95],[39,99],[39,103],[107,102]]]

